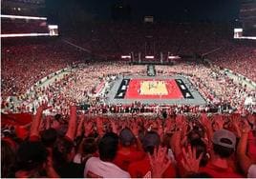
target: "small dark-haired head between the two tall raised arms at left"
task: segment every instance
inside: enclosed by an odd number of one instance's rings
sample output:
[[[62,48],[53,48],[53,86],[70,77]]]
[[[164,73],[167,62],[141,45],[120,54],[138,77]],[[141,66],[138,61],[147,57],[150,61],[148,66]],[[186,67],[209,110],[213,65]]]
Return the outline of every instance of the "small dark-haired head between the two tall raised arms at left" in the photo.
[[[42,143],[46,147],[53,147],[57,139],[57,131],[55,129],[45,129],[41,134]]]

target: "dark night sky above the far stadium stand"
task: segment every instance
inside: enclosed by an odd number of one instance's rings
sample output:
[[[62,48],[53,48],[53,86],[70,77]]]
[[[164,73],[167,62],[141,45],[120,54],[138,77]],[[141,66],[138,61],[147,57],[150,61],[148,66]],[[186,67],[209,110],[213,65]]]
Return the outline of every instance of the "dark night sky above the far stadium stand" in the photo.
[[[129,7],[132,21],[153,15],[156,21],[231,22],[238,18],[239,0],[46,0],[47,15],[59,21],[77,13],[88,18],[111,20],[113,7]]]

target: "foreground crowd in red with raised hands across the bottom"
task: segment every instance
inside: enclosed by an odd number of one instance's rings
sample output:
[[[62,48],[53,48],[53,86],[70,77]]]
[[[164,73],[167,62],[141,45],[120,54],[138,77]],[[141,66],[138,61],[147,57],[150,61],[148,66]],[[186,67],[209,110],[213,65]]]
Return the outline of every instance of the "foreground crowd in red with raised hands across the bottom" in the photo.
[[[2,128],[1,177],[256,177],[256,117],[45,116]]]

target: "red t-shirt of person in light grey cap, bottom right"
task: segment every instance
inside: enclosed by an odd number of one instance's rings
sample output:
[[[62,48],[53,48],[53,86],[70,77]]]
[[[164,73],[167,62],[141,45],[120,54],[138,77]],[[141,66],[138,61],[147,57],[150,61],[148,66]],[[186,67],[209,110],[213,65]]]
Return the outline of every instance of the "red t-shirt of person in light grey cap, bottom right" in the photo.
[[[213,178],[242,178],[243,176],[235,172],[232,168],[221,168],[209,162],[205,167],[200,169],[200,172],[205,172]]]

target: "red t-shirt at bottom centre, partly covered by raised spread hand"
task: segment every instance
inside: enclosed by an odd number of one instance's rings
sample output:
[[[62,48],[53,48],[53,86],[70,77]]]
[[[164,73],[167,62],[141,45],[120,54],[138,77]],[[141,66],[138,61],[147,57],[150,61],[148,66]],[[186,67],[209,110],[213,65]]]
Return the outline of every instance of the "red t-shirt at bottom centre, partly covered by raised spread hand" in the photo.
[[[142,160],[132,163],[128,168],[128,172],[133,178],[151,178],[152,176],[150,168],[150,161],[148,156],[146,155]],[[174,178],[176,177],[176,170],[172,165],[170,165],[169,168],[165,170],[162,177]]]

